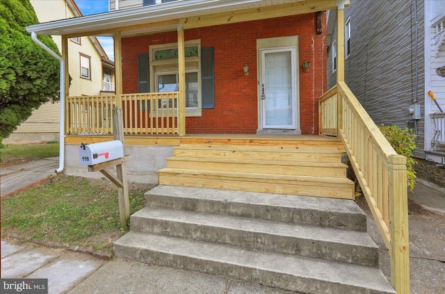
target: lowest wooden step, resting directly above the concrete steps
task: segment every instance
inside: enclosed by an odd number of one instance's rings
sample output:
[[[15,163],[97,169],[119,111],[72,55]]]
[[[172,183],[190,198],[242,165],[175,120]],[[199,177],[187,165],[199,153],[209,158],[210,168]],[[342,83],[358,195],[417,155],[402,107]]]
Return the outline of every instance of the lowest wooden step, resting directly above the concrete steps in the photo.
[[[343,199],[354,197],[354,183],[346,178],[163,168],[158,171],[158,179],[160,185]]]

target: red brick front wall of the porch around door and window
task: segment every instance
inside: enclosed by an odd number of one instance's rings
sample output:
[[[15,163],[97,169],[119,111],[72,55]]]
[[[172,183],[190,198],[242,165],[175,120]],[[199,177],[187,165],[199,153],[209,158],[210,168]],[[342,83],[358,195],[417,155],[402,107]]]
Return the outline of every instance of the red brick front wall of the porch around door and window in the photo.
[[[297,15],[186,30],[186,40],[214,47],[215,108],[186,117],[186,133],[256,133],[258,127],[257,39],[299,36],[300,125],[303,134],[318,133],[318,97],[326,88],[325,35],[316,34],[316,15]],[[177,33],[122,38],[124,93],[138,92],[137,56],[150,44],[177,42]],[[302,62],[310,61],[309,72]],[[248,76],[243,65],[249,65]]]

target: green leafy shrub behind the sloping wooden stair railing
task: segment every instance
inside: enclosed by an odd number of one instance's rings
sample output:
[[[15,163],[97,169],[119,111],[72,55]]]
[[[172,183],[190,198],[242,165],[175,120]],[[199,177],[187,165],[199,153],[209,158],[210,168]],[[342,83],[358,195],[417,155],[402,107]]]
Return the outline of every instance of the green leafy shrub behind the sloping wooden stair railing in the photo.
[[[388,142],[397,152],[406,157],[406,175],[407,175],[407,186],[410,191],[414,189],[414,184],[416,183],[414,179],[416,178],[416,172],[414,171],[414,158],[412,158],[412,151],[416,149],[416,135],[411,133],[407,128],[401,129],[398,126],[379,126],[380,131],[387,138]]]

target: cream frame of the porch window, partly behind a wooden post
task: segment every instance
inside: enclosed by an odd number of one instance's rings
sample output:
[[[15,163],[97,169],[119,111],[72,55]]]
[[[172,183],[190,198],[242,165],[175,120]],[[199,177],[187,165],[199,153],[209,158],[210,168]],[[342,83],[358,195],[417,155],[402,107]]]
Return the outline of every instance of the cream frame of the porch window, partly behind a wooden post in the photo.
[[[197,107],[186,107],[186,117],[202,116],[202,84],[201,84],[201,40],[189,40],[185,42],[185,47],[197,47],[197,56],[186,57],[186,73],[197,72]],[[170,58],[154,60],[154,52],[165,49],[177,49],[177,43],[157,44],[149,46],[149,79],[150,89],[157,91],[158,76],[160,74],[178,73],[178,59]],[[153,74],[152,74],[153,73]]]

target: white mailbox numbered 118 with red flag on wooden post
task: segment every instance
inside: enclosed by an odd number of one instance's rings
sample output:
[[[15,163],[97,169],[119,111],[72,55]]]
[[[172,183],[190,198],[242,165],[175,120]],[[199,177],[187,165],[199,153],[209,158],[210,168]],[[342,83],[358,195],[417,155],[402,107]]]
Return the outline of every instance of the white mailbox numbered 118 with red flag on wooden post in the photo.
[[[82,144],[79,149],[81,165],[96,165],[122,157],[124,157],[124,148],[120,140]]]

